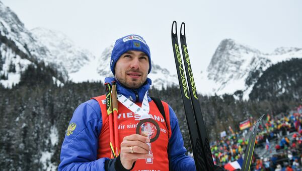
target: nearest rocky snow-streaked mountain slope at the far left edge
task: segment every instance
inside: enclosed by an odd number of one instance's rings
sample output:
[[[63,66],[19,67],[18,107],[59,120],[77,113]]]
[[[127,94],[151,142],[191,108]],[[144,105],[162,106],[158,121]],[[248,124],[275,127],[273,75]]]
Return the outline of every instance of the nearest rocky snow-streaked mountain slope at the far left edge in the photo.
[[[50,51],[33,37],[17,15],[2,2],[0,2],[0,51],[0,83],[6,87],[19,83],[21,73],[30,64],[51,66],[60,73],[60,76],[53,75],[55,80],[63,82],[67,79],[63,66],[44,61],[51,56]]]

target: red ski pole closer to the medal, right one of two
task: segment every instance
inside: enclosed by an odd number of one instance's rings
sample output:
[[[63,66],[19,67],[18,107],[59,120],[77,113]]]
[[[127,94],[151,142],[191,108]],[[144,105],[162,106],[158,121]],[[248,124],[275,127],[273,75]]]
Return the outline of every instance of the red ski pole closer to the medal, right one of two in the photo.
[[[115,139],[115,154],[116,156],[120,153],[120,145],[118,142],[118,122],[117,122],[117,95],[116,95],[116,82],[112,81],[112,108],[113,108],[113,118],[114,118],[114,139]]]

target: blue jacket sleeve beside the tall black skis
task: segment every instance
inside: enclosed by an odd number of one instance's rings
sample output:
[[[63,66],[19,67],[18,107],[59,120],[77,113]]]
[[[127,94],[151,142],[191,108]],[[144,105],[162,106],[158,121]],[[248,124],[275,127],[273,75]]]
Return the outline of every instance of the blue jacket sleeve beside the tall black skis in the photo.
[[[187,156],[184,140],[181,135],[175,112],[169,105],[170,125],[172,135],[169,139],[169,155],[173,170],[196,170],[194,159]]]

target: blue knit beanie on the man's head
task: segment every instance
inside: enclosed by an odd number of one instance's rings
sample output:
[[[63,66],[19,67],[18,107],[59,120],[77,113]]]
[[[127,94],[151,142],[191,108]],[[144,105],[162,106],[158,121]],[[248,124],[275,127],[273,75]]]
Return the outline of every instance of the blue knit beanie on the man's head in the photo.
[[[120,56],[129,51],[129,50],[137,50],[146,53],[149,58],[149,71],[151,71],[151,58],[150,58],[150,49],[144,39],[135,34],[127,35],[125,37],[119,38],[116,40],[112,53],[111,53],[111,61],[110,61],[110,69],[113,75],[115,75],[114,67]]]

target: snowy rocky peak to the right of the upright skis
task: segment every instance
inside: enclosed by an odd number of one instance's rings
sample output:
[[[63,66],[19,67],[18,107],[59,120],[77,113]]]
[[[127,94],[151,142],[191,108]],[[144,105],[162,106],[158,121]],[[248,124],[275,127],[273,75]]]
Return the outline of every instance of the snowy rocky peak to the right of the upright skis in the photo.
[[[278,62],[302,58],[302,48],[279,47],[272,53],[263,53],[255,48],[224,39],[217,47],[209,66],[197,78],[201,93],[217,95],[244,91],[247,99],[253,85],[262,73]]]

